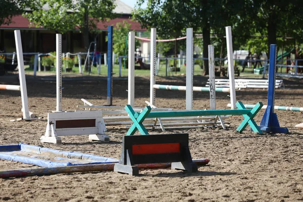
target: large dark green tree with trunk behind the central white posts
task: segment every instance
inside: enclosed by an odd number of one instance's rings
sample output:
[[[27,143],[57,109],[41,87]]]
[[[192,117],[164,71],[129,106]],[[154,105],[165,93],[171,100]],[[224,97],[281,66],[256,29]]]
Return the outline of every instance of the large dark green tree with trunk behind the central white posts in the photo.
[[[148,0],[147,8],[141,5],[146,0],[138,0],[133,16],[145,28],[155,27],[160,36],[179,37],[185,28],[203,34],[203,57],[208,58],[211,44],[211,30],[230,25],[237,18],[237,12],[245,1],[237,0]],[[247,0],[248,1],[248,0]],[[204,61],[204,74],[209,73],[208,61]]]

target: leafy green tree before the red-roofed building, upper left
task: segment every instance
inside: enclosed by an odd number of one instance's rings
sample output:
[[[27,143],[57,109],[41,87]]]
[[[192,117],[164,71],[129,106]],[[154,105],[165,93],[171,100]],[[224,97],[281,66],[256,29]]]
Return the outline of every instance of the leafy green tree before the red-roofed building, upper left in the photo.
[[[55,30],[59,33],[80,29],[84,45],[89,47],[89,32],[98,32],[96,23],[116,17],[113,13],[114,0],[32,0],[32,12],[24,15],[37,27]],[[48,9],[43,9],[47,5]]]

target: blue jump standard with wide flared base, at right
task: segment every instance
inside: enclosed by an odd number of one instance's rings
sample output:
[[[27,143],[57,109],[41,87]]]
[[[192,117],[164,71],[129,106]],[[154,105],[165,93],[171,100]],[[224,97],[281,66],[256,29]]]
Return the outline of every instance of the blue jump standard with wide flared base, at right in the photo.
[[[276,51],[277,45],[270,45],[269,70],[268,70],[268,98],[267,108],[260,123],[260,129],[267,133],[287,133],[288,129],[280,127],[277,114],[274,113],[275,106],[275,84],[276,84]]]

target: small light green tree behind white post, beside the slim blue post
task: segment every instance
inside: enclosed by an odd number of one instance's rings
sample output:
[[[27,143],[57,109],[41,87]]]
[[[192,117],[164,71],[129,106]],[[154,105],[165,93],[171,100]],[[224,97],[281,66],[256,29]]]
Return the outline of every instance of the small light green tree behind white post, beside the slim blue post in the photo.
[[[127,21],[123,23],[118,22],[113,32],[113,51],[119,56],[128,55],[128,32],[130,31],[131,24]],[[125,46],[127,43],[127,46]],[[135,39],[135,49],[140,46],[139,40]]]

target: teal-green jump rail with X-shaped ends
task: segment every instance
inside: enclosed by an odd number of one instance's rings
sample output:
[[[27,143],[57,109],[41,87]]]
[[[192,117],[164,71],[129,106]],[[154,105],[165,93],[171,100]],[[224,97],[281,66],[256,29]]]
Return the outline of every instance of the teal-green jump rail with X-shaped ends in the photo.
[[[134,135],[137,130],[142,135],[148,135],[147,130],[143,126],[145,118],[163,118],[163,117],[193,117],[193,116],[217,116],[217,115],[242,115],[244,120],[236,129],[238,132],[243,132],[247,125],[251,130],[262,134],[259,126],[254,121],[254,117],[263,107],[261,102],[257,103],[254,108],[246,109],[242,102],[236,103],[237,110],[198,110],[198,111],[169,111],[169,112],[150,112],[151,108],[146,106],[142,112],[134,112],[130,105],[125,106],[126,112],[129,114],[130,119],[133,121],[132,126],[127,131],[126,135]]]

